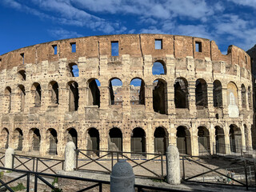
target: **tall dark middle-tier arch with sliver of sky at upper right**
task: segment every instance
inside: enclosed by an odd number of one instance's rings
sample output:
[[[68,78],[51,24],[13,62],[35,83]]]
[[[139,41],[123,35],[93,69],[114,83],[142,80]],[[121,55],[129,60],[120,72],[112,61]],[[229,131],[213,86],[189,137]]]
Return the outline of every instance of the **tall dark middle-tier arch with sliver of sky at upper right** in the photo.
[[[89,80],[89,92],[88,92],[88,106],[98,106],[100,107],[100,91],[98,87],[101,83],[98,79],[93,78]]]

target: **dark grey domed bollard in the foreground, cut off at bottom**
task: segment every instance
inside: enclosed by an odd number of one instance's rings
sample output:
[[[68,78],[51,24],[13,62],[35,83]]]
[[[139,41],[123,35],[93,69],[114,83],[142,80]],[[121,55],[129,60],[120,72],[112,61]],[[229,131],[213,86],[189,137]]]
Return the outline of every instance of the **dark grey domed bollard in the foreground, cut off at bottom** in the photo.
[[[134,170],[126,160],[119,160],[110,174],[111,192],[134,192]]]

